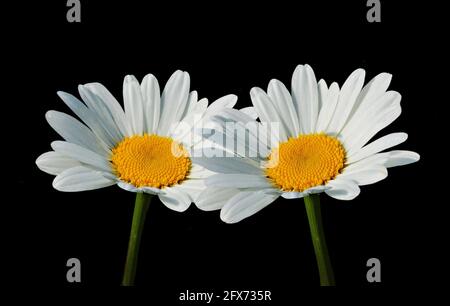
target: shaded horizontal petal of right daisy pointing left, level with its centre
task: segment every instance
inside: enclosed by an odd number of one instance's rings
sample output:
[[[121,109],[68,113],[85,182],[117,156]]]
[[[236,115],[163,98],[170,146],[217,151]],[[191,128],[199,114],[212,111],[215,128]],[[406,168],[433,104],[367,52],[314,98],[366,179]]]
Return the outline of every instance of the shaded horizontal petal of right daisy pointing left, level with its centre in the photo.
[[[262,174],[258,164],[242,157],[193,157],[192,162],[218,173]]]

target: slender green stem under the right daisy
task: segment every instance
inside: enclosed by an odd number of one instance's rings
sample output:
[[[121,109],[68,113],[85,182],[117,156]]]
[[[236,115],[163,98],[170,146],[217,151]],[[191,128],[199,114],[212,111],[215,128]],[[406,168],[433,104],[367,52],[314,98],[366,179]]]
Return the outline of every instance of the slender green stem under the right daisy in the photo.
[[[319,268],[320,285],[334,286],[334,274],[331,267],[328,248],[322,225],[322,214],[320,212],[320,196],[312,194],[304,198],[306,214],[308,215],[311,239],[316,253],[317,266]]]

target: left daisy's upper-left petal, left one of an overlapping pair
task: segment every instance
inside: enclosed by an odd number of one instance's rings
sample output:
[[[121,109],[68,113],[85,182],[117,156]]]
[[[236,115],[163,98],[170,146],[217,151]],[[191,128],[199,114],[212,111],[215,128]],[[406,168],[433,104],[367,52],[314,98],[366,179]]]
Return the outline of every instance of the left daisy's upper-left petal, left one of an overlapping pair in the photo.
[[[115,123],[111,112],[102,98],[92,92],[86,85],[79,85],[78,92],[89,109],[99,118],[99,123],[111,136],[113,141],[120,141],[123,138],[123,133]]]

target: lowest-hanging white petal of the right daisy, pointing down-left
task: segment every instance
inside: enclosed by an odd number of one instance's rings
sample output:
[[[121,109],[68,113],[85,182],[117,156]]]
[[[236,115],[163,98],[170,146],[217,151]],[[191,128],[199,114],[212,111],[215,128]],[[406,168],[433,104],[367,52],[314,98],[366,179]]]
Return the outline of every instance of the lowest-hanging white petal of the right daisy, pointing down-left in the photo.
[[[279,194],[263,190],[240,192],[233,196],[220,211],[220,218],[226,223],[236,223],[254,215],[279,197]]]

